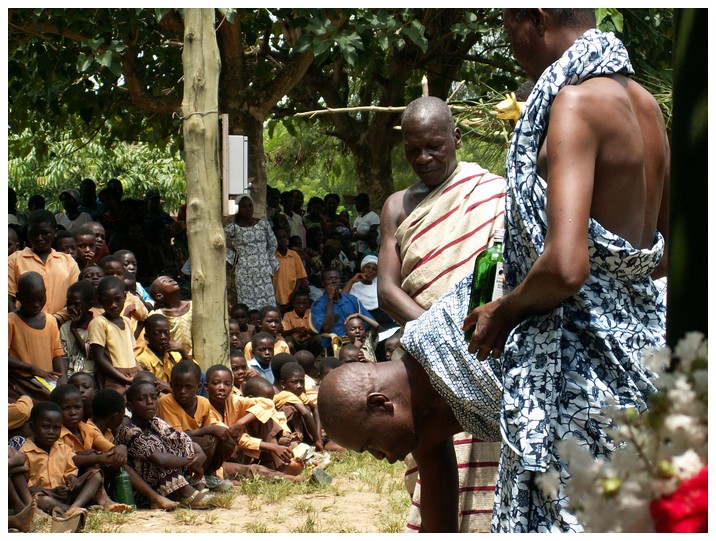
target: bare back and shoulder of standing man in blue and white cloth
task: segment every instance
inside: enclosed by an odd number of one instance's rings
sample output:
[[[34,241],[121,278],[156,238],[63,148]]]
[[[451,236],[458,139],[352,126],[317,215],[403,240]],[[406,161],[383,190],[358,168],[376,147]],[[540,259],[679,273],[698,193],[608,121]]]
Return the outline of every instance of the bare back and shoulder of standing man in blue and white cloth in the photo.
[[[591,139],[587,152],[584,137]],[[559,158],[575,168],[595,163],[589,215],[606,229],[640,249],[653,245],[656,229],[666,235],[666,205],[662,216],[659,210],[667,197],[669,144],[659,106],[639,84],[616,75],[562,89],[538,157],[548,184],[549,164]]]

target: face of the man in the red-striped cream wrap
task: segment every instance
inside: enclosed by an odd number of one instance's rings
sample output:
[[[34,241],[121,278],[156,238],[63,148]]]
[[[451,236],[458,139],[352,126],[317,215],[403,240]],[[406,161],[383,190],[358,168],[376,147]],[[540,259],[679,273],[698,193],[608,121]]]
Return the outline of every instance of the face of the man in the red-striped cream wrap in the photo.
[[[403,125],[403,147],[415,174],[432,188],[442,184],[457,167],[460,130],[451,130],[444,121],[426,115],[414,117]]]

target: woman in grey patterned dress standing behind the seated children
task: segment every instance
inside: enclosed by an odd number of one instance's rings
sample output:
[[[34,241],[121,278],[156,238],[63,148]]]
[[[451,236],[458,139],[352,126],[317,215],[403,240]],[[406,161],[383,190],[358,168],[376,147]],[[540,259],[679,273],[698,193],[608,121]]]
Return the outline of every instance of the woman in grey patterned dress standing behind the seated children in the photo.
[[[234,222],[224,228],[226,261],[233,266],[236,302],[260,309],[276,304],[271,277],[278,269],[278,242],[266,220],[254,218],[254,202],[239,200]]]

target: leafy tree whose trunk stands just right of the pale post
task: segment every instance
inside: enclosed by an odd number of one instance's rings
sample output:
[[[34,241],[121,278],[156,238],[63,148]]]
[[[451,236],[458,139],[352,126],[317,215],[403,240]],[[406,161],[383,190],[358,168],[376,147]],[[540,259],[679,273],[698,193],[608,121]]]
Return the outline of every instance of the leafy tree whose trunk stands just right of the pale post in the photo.
[[[266,184],[263,123],[313,61],[299,38],[339,35],[345,16],[320,9],[218,10],[219,107],[229,131],[249,138],[249,180],[257,209]],[[10,130],[65,125],[111,140],[176,141],[182,95],[184,23],[177,10],[12,9],[9,11]]]

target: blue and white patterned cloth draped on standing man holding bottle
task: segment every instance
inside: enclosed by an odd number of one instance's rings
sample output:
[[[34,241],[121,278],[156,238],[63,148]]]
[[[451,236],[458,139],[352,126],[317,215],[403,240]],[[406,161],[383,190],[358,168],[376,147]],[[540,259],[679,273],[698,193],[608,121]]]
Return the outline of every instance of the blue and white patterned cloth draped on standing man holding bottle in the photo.
[[[504,261],[508,289],[527,275],[544,249],[547,185],[537,175],[537,152],[561,88],[602,75],[633,73],[621,41],[589,30],[540,77],[515,127],[507,155]],[[574,439],[595,457],[608,457],[605,407],[645,407],[653,391],[641,358],[665,339],[666,306],[650,278],[664,250],[637,250],[590,220],[591,272],[579,294],[528,318],[510,334],[502,357],[503,437],[493,531],[580,531],[566,507],[568,465],[556,443]],[[560,474],[548,498],[535,484],[547,470]]]

